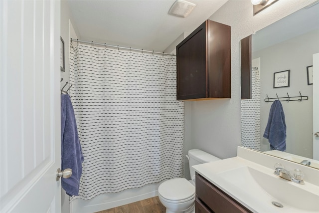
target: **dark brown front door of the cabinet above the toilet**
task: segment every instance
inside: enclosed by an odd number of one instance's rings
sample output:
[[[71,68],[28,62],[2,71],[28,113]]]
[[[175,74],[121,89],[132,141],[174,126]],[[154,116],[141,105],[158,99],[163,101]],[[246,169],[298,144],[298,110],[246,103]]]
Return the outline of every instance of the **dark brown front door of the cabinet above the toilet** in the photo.
[[[177,100],[207,97],[206,26],[207,21],[176,47]]]

